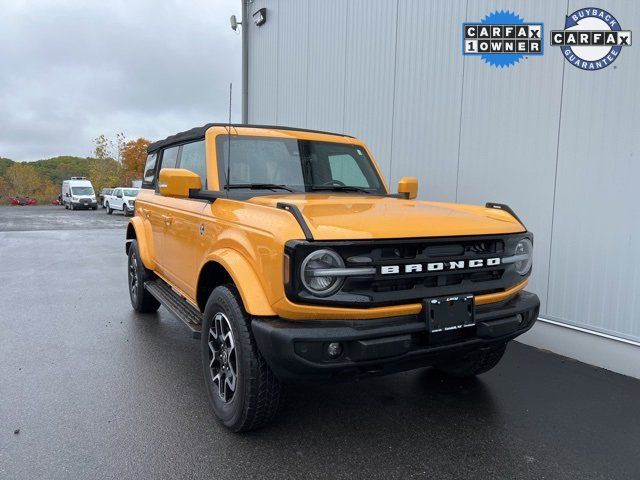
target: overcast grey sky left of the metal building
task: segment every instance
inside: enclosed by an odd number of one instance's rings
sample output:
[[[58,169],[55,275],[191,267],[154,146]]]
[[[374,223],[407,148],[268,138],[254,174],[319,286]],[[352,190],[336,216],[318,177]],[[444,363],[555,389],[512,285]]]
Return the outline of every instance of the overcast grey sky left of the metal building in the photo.
[[[0,0],[0,157],[240,121],[240,0]]]

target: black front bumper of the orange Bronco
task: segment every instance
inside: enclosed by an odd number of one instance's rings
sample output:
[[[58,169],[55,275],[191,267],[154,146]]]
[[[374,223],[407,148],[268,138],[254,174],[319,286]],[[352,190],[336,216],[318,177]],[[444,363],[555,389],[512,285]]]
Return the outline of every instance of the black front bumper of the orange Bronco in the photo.
[[[282,381],[319,381],[411,370],[497,348],[529,330],[540,300],[520,292],[500,303],[475,307],[475,327],[433,335],[422,314],[373,320],[254,319],[251,328],[273,372]],[[326,354],[341,342],[337,359]]]

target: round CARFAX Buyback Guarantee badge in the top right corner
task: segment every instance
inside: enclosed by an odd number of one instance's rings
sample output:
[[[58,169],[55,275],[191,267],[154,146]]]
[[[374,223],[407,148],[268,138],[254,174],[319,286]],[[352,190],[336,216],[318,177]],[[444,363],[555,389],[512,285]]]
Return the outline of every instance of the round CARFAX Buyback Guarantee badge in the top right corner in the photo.
[[[564,30],[551,32],[551,45],[559,46],[572,65],[583,70],[601,70],[611,65],[622,47],[631,46],[631,30],[601,8],[581,8],[567,15]]]

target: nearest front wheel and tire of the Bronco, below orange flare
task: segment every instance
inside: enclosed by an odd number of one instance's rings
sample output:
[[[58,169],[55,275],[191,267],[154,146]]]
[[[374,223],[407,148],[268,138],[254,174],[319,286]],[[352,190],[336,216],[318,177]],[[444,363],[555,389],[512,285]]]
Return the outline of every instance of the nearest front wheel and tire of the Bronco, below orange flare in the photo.
[[[251,318],[233,285],[213,290],[202,323],[202,367],[209,403],[234,432],[269,423],[282,387],[256,346]]]

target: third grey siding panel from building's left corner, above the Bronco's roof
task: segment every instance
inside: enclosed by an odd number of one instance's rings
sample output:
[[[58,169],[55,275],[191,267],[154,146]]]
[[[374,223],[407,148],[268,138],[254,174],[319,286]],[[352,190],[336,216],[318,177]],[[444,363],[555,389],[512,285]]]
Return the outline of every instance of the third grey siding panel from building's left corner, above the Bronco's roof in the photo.
[[[347,2],[309,3],[309,63],[306,127],[341,132],[344,127],[344,84]]]

